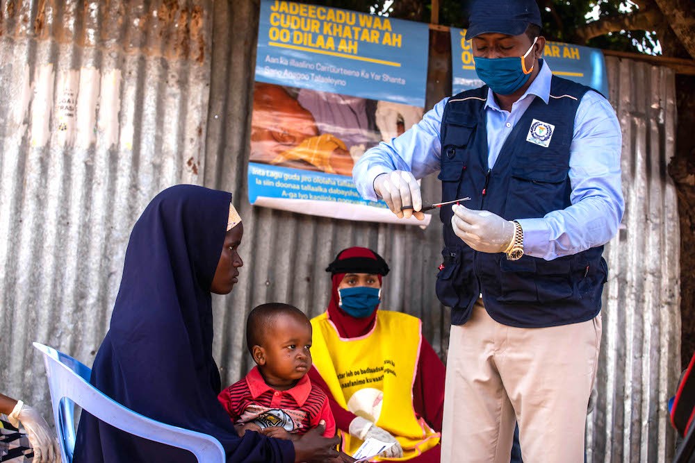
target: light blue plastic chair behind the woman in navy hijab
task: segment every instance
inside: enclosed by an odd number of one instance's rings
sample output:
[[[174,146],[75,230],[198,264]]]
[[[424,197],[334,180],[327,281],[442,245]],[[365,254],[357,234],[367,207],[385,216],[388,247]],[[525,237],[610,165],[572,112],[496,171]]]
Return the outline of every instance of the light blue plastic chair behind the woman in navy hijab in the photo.
[[[214,437],[160,423],[133,412],[90,385],[91,370],[84,364],[49,346],[38,342],[33,344],[44,355],[63,462],[72,463],[75,448],[75,404],[115,428],[162,444],[184,448],[193,453],[199,462],[225,461],[224,448]]]

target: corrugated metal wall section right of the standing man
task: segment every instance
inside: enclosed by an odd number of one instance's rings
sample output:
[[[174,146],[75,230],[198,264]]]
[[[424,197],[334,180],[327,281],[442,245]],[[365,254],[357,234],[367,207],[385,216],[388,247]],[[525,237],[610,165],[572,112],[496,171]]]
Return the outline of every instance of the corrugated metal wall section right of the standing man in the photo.
[[[667,173],[675,149],[675,80],[664,67],[606,62],[623,131],[626,212],[624,228],[604,252],[609,280],[589,461],[670,461],[667,401],[680,376],[680,230]]]

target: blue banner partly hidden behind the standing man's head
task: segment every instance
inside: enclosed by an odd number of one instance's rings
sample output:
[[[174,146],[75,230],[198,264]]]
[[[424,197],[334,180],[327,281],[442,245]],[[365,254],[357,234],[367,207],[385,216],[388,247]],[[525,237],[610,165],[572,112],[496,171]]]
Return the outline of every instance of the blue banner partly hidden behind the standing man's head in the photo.
[[[475,74],[471,41],[466,29],[451,28],[452,94],[483,85]],[[568,78],[608,95],[605,60],[599,49],[562,42],[546,42],[545,60],[555,76]]]

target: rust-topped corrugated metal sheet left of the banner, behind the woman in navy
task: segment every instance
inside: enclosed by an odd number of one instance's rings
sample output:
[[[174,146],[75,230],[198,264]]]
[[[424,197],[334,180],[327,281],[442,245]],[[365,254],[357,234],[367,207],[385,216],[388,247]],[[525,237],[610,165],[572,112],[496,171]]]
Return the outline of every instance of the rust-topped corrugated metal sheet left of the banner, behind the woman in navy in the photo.
[[[0,1],[0,389],[48,410],[38,340],[90,364],[130,228],[202,183],[211,2]]]

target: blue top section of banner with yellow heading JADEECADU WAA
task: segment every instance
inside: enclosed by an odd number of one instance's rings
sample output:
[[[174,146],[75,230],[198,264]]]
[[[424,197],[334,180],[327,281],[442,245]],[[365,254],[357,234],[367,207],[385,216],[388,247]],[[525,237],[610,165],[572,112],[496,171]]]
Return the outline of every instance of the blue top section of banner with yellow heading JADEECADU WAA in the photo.
[[[425,106],[427,24],[261,1],[256,81]]]

